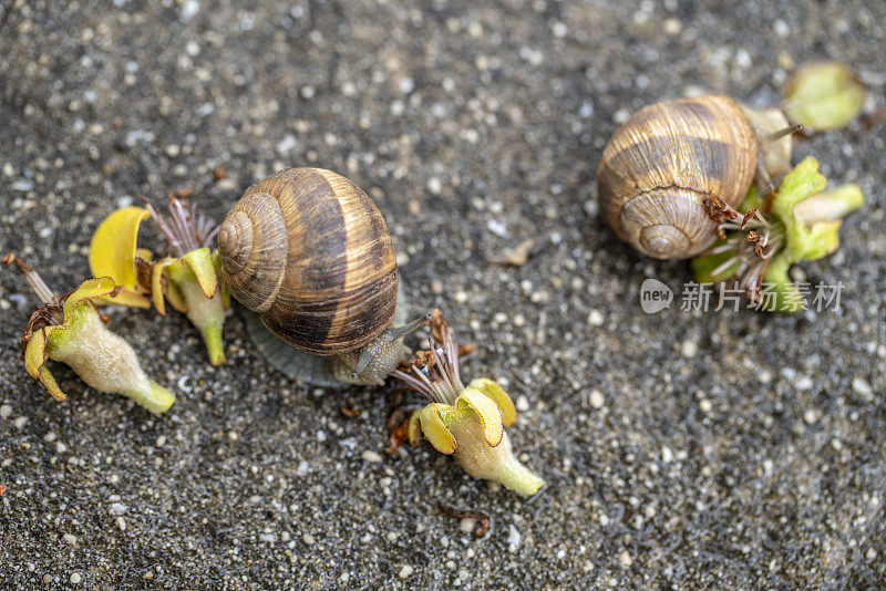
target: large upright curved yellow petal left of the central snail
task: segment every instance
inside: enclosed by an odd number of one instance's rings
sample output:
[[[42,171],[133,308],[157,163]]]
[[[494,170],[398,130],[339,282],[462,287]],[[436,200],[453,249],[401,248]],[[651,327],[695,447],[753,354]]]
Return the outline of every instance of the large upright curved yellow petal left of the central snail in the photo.
[[[137,291],[135,241],[138,225],[150,217],[147,209],[130,206],[104,218],[90,242],[89,258],[93,276],[109,276],[122,288]]]

